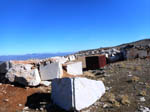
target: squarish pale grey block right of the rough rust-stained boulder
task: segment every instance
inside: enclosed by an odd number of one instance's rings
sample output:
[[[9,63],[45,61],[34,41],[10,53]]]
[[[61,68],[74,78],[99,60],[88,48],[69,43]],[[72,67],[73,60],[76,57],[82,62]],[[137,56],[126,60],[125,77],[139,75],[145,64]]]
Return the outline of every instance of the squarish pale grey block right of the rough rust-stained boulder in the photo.
[[[56,63],[46,63],[46,65],[40,65],[40,75],[41,80],[52,80],[55,78],[61,78],[63,75],[62,64],[59,62]]]

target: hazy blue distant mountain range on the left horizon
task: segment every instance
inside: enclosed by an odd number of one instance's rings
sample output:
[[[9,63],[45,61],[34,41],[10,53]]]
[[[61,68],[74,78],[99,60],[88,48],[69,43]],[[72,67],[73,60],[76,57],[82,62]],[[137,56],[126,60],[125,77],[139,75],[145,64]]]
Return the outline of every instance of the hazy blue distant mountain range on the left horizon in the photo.
[[[27,60],[27,59],[44,59],[54,56],[66,56],[73,54],[73,52],[64,52],[64,53],[36,53],[36,54],[26,54],[26,55],[2,55],[0,56],[0,63],[2,61],[9,60]]]

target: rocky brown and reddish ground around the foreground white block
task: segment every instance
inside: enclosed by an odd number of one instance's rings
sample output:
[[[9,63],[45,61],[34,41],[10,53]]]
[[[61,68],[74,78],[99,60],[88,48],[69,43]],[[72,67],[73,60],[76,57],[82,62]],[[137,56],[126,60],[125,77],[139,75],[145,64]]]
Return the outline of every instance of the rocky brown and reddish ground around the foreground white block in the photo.
[[[104,69],[84,71],[102,80],[106,93],[82,112],[150,112],[150,59],[121,61]],[[0,83],[0,112],[65,112],[51,101],[51,87]]]

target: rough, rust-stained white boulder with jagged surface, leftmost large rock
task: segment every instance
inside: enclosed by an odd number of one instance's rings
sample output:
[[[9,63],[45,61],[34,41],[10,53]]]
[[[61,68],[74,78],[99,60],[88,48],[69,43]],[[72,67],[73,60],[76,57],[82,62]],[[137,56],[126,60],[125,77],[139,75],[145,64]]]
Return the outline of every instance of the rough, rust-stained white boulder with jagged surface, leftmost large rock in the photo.
[[[37,69],[32,69],[30,64],[13,64],[8,70],[5,77],[10,82],[18,82],[25,86],[37,86],[41,79]]]

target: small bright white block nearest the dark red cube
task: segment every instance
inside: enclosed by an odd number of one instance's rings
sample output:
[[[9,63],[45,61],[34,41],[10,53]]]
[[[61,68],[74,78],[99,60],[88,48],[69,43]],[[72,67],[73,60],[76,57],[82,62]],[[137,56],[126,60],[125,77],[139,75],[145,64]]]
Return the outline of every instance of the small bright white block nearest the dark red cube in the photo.
[[[66,64],[67,73],[71,75],[82,75],[82,62],[70,62]]]

